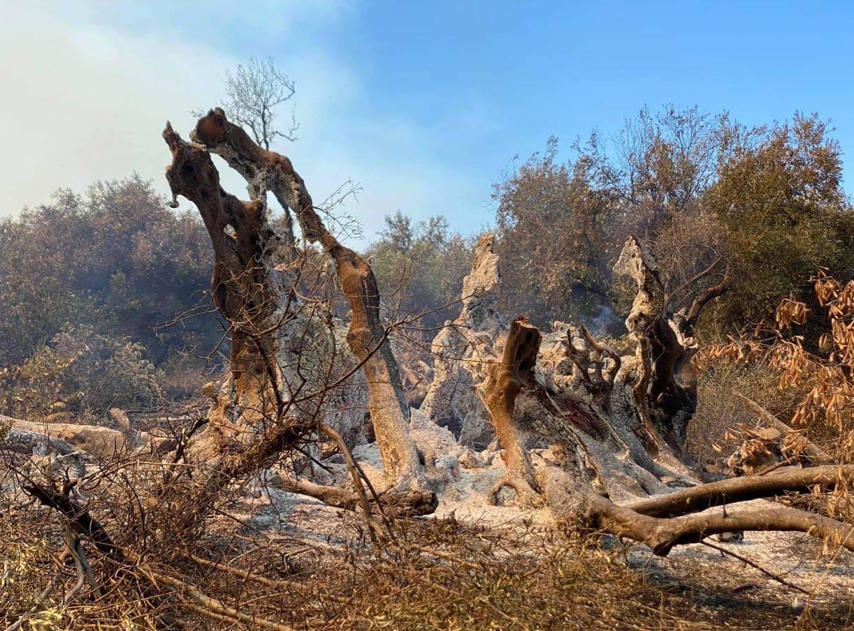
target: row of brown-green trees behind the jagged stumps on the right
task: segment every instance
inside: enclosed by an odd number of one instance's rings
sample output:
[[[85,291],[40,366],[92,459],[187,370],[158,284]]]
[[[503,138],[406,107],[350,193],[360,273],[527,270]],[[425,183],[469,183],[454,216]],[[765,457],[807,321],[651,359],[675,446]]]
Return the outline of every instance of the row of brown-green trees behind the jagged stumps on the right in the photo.
[[[668,106],[576,141],[565,162],[549,139],[494,187],[502,310],[540,325],[625,313],[632,288],[611,265],[629,234],[656,259],[673,312],[732,285],[706,310],[721,330],[769,318],[780,295],[806,297],[816,267],[848,277],[852,213],[828,134],[816,115],[746,128]]]

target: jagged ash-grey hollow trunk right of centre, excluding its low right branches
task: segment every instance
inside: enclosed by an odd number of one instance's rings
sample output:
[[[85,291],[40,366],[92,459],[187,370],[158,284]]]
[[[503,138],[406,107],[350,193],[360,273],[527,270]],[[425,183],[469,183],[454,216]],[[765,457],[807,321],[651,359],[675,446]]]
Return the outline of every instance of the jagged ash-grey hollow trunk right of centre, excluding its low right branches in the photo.
[[[464,416],[464,434],[466,425],[477,425],[471,417],[483,414],[505,449],[508,470],[498,488],[516,489],[525,504],[559,486],[553,473],[550,483],[542,481],[540,461],[532,466],[527,455],[532,447],[551,445],[553,460],[561,460],[577,484],[616,495],[692,483],[697,476],[683,440],[695,399],[676,378],[676,367],[690,352],[681,342],[699,307],[677,334],[664,315],[655,263],[630,238],[615,269],[635,281],[626,321],[634,357],[618,356],[583,326],[555,322],[543,336],[523,320],[508,328],[493,307],[500,281],[493,241],[485,235],[477,244],[462,312],[434,340],[435,376],[425,414],[436,421]],[[529,353],[520,355],[522,349]],[[519,363],[532,359],[524,369]]]

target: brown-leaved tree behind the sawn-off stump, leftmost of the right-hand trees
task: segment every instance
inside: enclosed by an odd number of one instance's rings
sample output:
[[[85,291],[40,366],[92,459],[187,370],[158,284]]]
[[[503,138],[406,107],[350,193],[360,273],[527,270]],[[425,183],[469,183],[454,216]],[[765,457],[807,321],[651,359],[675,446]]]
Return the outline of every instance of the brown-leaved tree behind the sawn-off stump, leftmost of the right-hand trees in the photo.
[[[504,264],[501,310],[544,325],[560,318],[589,321],[609,303],[607,234],[614,194],[594,188],[594,163],[561,164],[549,138],[505,181],[494,185],[498,252]]]

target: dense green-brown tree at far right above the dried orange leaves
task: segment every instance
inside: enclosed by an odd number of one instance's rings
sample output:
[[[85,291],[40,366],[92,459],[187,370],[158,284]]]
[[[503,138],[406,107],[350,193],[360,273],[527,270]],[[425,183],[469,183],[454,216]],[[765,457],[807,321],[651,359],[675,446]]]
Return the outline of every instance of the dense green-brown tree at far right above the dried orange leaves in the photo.
[[[842,155],[815,114],[722,137],[717,179],[703,197],[734,265],[722,321],[769,318],[780,296],[810,300],[816,268],[854,273],[854,213],[841,186]]]

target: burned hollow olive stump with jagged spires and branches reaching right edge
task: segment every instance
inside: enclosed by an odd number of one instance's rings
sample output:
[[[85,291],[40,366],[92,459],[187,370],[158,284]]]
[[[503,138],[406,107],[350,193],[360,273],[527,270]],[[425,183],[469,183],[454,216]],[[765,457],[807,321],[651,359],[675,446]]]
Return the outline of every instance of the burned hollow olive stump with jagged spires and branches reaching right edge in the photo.
[[[728,269],[673,313],[655,261],[630,237],[615,269],[635,284],[626,319],[635,355],[620,357],[583,326],[555,322],[546,335],[524,318],[508,326],[490,302],[500,283],[492,243],[489,235],[478,243],[462,312],[436,336],[436,379],[422,406],[431,418],[457,420],[461,431],[483,423],[473,420],[478,414],[491,421],[506,463],[491,501],[509,487],[520,503],[545,504],[556,518],[627,536],[658,554],[734,530],[799,530],[854,549],[851,524],[795,508],[691,514],[854,481],[854,467],[825,465],[711,482],[687,455],[685,427],[697,396],[693,327],[705,304],[726,291]]]

